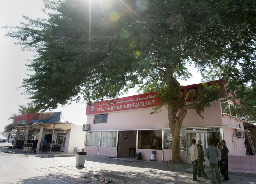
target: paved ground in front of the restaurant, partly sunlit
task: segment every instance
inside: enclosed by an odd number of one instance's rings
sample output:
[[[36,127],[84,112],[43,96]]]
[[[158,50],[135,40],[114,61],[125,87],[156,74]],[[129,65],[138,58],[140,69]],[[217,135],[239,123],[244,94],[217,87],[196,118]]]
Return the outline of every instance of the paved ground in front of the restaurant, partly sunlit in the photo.
[[[85,168],[75,168],[76,157],[39,158],[23,154],[0,152],[0,183],[57,183],[57,184],[104,184],[103,179],[110,177],[116,180],[112,183],[197,183],[192,181],[191,167],[184,165],[167,165],[152,162],[136,162],[129,160],[87,157]],[[210,173],[208,173],[210,178]],[[95,178],[98,181],[95,181]],[[256,184],[256,178],[230,175],[228,183]],[[211,183],[199,178],[200,183]]]

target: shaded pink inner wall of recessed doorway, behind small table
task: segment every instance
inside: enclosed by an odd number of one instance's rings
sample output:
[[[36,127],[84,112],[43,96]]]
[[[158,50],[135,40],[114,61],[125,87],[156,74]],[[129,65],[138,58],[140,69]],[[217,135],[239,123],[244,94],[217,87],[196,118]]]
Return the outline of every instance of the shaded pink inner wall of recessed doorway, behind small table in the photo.
[[[119,131],[120,135],[120,147],[118,150],[118,156],[129,156],[129,148],[136,148],[136,135],[134,135],[135,131]],[[124,136],[128,135],[127,142],[124,140]],[[131,150],[131,156],[133,156],[134,151]]]

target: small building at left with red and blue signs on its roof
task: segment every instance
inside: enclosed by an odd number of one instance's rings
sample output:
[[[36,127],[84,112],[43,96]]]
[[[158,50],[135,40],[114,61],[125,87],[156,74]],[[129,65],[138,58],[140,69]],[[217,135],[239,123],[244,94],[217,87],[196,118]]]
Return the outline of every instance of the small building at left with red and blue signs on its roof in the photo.
[[[16,131],[14,147],[24,151],[42,148],[46,138],[47,150],[73,153],[84,147],[82,125],[61,122],[62,112],[22,114],[14,117]]]

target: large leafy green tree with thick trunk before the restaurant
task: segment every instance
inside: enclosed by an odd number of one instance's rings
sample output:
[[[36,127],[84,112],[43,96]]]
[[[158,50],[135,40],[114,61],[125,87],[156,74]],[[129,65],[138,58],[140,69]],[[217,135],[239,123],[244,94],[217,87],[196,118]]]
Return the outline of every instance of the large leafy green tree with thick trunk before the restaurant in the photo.
[[[181,162],[178,137],[188,109],[196,113],[220,98],[220,89],[255,87],[254,0],[59,0],[44,1],[47,19],[30,19],[7,36],[36,52],[23,87],[35,108],[53,109],[83,96],[116,98],[136,85],[157,91],[168,108],[172,161]],[[221,85],[204,85],[186,104],[177,79],[188,65]],[[239,87],[238,87],[239,86]],[[228,91],[227,91],[228,92]],[[186,96],[189,98],[189,95]],[[155,108],[155,111],[157,109]]]

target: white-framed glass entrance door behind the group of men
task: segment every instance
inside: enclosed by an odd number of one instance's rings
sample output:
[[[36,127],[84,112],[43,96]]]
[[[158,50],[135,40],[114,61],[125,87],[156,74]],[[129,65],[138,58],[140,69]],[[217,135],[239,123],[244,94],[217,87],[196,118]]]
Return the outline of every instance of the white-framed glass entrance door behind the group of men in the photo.
[[[196,144],[198,141],[202,141],[202,146],[205,150],[208,147],[207,143],[207,131],[206,130],[186,130],[186,144],[187,144],[187,155],[190,155],[189,148],[192,146],[192,139],[196,140]]]

